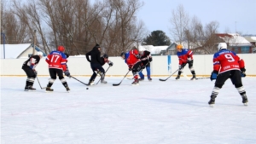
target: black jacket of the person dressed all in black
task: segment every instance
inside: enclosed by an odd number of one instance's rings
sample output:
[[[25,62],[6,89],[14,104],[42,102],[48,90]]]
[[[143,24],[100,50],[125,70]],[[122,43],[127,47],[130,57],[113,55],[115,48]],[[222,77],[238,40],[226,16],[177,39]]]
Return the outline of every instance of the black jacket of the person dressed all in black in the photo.
[[[90,62],[90,64],[104,64],[104,60],[102,61],[101,59],[101,51],[98,48],[100,48],[100,46],[96,45],[92,50],[90,50],[90,52],[86,53],[86,59]]]

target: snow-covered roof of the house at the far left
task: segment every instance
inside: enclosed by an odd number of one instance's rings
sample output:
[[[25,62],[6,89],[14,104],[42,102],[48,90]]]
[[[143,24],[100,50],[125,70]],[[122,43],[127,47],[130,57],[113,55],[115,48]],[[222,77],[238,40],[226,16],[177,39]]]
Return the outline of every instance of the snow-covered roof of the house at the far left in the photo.
[[[32,46],[31,43],[4,44],[4,45],[1,44],[1,59],[3,58],[17,59],[26,49],[29,49],[31,46]],[[36,51],[42,51],[42,50],[36,46]],[[45,56],[44,52],[43,54]]]

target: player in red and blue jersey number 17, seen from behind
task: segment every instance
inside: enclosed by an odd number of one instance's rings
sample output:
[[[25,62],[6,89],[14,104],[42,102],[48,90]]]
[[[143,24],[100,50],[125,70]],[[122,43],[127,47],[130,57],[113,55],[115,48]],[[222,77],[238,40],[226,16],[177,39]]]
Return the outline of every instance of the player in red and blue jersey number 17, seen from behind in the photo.
[[[66,79],[63,77],[63,72],[67,77],[70,77],[70,73],[67,70],[67,57],[64,54],[65,48],[63,46],[58,46],[57,50],[51,51],[47,55],[46,62],[49,64],[49,83],[46,87],[46,92],[53,91],[50,87],[54,84],[57,76],[61,80],[63,86],[70,91]]]

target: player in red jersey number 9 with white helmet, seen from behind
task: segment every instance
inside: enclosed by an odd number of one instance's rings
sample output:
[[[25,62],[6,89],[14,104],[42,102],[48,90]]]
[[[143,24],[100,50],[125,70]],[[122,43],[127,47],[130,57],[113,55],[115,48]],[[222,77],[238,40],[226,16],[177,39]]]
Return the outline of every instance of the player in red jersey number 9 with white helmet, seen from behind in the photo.
[[[213,55],[213,72],[211,74],[211,80],[216,79],[216,82],[208,104],[213,107],[219,90],[225,81],[230,78],[241,95],[242,103],[247,106],[246,90],[241,83],[241,77],[246,76],[245,72],[244,61],[235,52],[228,50],[226,43],[218,43],[218,52]]]

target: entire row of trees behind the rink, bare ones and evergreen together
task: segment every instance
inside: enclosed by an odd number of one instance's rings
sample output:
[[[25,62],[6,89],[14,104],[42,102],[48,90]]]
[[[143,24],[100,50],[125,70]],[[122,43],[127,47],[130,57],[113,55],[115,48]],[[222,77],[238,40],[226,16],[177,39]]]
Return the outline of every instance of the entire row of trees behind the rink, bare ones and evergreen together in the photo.
[[[1,32],[6,43],[33,43],[49,53],[63,45],[69,55],[84,55],[96,43],[102,53],[119,56],[133,46],[170,45],[165,32],[156,30],[147,35],[137,11],[143,7],[140,0],[2,0]],[[196,16],[179,5],[172,9],[170,25],[172,42],[187,43],[186,48],[198,48],[204,54],[216,51],[220,39],[218,21],[205,26]]]

